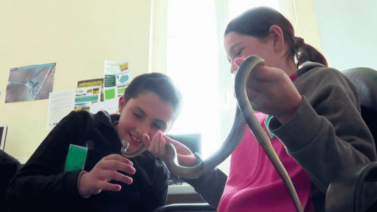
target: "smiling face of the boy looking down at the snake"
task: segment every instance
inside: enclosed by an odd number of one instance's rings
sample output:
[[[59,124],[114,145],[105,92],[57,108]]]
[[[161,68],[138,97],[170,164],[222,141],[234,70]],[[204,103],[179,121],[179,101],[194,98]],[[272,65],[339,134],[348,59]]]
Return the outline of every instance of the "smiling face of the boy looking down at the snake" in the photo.
[[[172,123],[174,106],[161,100],[153,92],[140,93],[126,102],[119,99],[120,118],[116,127],[121,140],[129,142],[127,151],[134,151],[146,133],[152,139],[159,130],[165,132]]]

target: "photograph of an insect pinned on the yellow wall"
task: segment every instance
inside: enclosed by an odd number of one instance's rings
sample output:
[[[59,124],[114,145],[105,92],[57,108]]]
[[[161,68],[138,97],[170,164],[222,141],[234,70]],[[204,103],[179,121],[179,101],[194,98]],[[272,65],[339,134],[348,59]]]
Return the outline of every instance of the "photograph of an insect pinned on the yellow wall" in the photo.
[[[10,69],[5,103],[48,99],[53,92],[56,63]]]

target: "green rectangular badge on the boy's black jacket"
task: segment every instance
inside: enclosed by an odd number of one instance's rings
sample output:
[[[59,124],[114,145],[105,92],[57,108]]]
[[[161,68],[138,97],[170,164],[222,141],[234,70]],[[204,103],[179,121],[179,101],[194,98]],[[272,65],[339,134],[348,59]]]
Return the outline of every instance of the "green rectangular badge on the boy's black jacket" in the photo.
[[[64,172],[76,172],[84,168],[88,148],[70,144]]]

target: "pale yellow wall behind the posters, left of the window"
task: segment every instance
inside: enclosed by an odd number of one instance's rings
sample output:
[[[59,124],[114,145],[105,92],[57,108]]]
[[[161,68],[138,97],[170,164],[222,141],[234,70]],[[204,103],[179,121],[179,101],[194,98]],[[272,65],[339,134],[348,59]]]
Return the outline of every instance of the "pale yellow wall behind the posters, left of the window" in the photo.
[[[136,3],[137,2],[137,3]],[[148,72],[151,0],[0,0],[0,125],[5,152],[27,159],[47,136],[48,100],[5,103],[11,68],[56,62],[54,91],[104,77],[104,60]]]

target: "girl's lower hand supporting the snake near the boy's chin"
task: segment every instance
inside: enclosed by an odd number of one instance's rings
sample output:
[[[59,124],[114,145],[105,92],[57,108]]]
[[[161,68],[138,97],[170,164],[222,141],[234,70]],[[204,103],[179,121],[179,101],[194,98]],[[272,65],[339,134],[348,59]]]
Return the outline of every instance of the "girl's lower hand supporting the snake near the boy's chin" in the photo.
[[[144,142],[147,144],[148,151],[164,162],[168,161],[168,152],[165,148],[166,143],[171,143],[175,147],[175,150],[177,151],[178,162],[180,165],[191,166],[195,161],[194,155],[187,146],[167,137],[166,135],[163,135],[161,131],[157,132],[153,136],[152,141],[150,141],[147,134],[144,134],[143,138]]]

